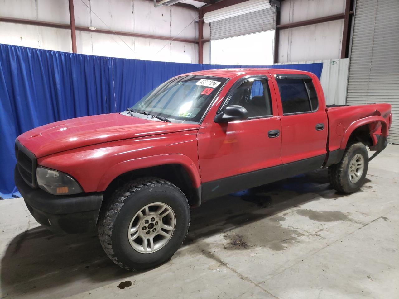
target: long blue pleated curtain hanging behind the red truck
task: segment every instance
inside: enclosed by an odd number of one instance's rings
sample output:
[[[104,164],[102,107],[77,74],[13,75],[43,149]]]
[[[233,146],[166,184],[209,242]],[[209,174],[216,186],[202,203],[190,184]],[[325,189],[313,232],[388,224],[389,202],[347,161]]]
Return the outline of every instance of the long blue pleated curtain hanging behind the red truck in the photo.
[[[67,118],[123,111],[179,74],[236,67],[299,69],[320,78],[323,64],[171,63],[0,44],[0,196],[9,198],[17,192],[14,142],[23,132]]]

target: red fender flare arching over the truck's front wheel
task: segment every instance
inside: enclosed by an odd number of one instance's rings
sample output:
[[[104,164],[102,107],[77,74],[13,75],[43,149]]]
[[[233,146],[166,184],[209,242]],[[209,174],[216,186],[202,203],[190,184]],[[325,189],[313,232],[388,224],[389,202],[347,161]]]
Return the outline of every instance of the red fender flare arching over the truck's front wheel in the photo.
[[[97,191],[104,191],[116,177],[129,171],[168,164],[182,165],[190,175],[193,187],[199,188],[201,186],[201,178],[196,164],[186,155],[173,153],[142,157],[117,163],[110,167],[105,175],[103,175],[97,186]]]

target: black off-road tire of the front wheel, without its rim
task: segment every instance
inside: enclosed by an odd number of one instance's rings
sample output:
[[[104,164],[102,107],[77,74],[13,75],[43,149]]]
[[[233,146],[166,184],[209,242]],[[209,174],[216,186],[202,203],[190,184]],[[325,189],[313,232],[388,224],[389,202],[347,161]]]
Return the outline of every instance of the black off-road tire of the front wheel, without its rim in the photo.
[[[166,245],[156,252],[140,253],[128,240],[132,217],[150,203],[166,203],[176,216],[176,228]],[[183,243],[190,225],[190,206],[174,184],[156,177],[135,179],[118,188],[101,212],[98,236],[109,258],[126,270],[142,270],[169,260]]]

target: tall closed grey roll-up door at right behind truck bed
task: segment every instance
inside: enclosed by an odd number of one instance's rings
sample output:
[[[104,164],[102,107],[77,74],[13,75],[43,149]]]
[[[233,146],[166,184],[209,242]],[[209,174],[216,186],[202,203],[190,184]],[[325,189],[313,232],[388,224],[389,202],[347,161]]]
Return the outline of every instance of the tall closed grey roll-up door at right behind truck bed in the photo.
[[[357,0],[347,104],[389,103],[399,144],[399,1]]]

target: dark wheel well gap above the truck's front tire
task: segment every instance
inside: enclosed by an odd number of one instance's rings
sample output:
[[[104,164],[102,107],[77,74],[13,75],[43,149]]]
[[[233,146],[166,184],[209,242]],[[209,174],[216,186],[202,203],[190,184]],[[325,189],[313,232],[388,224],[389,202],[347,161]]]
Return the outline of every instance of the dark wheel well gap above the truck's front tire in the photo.
[[[135,169],[116,177],[105,189],[103,206],[107,203],[112,193],[120,186],[139,177],[159,177],[176,185],[188,199],[192,207],[200,204],[198,191],[193,187],[188,171],[180,164],[159,165],[142,169]]]

